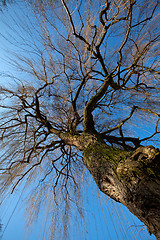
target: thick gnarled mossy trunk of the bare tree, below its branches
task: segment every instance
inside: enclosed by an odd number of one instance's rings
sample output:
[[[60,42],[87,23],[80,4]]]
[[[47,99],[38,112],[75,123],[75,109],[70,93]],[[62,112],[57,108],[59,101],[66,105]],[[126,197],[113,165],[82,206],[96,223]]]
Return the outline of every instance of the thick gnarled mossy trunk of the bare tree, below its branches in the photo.
[[[159,150],[141,146],[130,153],[89,134],[84,142],[84,164],[99,189],[124,204],[160,239]]]

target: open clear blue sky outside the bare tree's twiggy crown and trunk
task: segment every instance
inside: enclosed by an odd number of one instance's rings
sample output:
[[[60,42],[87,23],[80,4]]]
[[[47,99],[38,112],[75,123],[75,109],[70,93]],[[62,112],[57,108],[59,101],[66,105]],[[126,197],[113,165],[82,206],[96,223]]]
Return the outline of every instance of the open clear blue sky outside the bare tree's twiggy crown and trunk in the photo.
[[[11,9],[11,10],[10,10]],[[0,12],[0,33],[5,34],[7,21],[10,25],[14,25],[9,14],[14,12],[16,6],[11,5],[4,13]],[[6,49],[14,50],[13,46],[0,35],[0,73],[10,72],[13,69],[4,60],[7,56]],[[0,82],[6,81],[1,76]],[[2,240],[41,240],[45,239],[47,223],[41,226],[41,217],[32,227],[31,233],[26,233],[25,226],[25,197],[21,195],[21,189],[15,191],[13,195],[8,196],[5,202],[0,205],[0,218],[3,224]],[[27,193],[25,193],[27,194]],[[100,193],[99,193],[100,194]],[[149,236],[146,227],[137,218],[121,204],[113,202],[103,194],[100,194],[99,201],[98,192],[94,183],[90,183],[84,193],[84,212],[85,221],[73,218],[71,223],[71,240],[105,240],[105,239],[155,239]],[[46,228],[45,228],[46,227]]]

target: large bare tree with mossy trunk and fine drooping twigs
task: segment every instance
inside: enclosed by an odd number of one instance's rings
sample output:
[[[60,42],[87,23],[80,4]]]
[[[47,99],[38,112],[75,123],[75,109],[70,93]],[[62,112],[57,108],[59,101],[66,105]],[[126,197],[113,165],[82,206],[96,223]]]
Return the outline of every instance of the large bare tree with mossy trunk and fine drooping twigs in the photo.
[[[1,192],[37,177],[43,187],[30,216],[52,190],[55,204],[65,201],[65,228],[73,193],[81,209],[87,168],[160,239],[160,152],[150,145],[160,133],[159,2],[33,0],[30,7],[36,21],[28,18],[27,37],[19,34],[26,54],[14,58],[25,74],[1,86]]]

